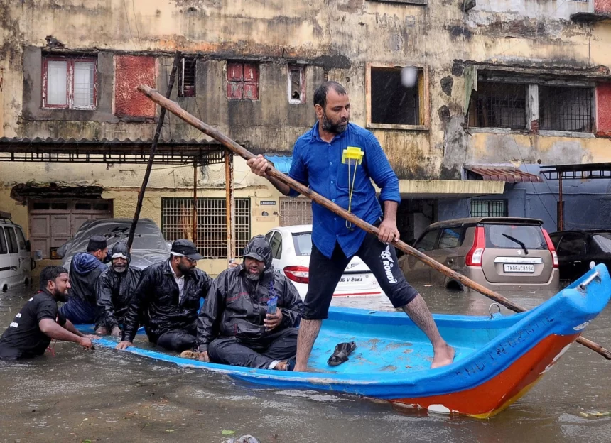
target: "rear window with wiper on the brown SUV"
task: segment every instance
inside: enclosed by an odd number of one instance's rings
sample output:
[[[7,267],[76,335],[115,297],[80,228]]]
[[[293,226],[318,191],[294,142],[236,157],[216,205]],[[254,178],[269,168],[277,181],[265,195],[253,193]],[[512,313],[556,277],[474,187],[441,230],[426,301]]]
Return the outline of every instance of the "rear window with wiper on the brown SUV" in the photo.
[[[487,224],[485,225],[486,247],[496,249],[547,249],[539,226]]]

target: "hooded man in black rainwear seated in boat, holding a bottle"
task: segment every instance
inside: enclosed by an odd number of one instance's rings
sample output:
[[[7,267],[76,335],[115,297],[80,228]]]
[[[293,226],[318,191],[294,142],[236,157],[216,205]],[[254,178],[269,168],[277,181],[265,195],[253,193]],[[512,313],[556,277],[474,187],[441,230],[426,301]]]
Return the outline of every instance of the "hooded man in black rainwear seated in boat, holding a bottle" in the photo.
[[[291,371],[301,306],[296,288],[274,272],[269,240],[255,236],[244,248],[244,262],[212,283],[198,319],[197,351],[180,356]]]

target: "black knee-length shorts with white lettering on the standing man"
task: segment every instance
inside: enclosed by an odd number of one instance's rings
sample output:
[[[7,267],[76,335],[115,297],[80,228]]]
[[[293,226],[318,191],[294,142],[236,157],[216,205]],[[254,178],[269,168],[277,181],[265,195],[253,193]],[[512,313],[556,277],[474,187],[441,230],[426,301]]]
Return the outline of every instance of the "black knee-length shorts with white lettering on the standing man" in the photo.
[[[367,234],[355,254],[372,270],[380,288],[394,307],[407,305],[418,291],[401,272],[394,246],[379,241],[374,234]],[[323,320],[329,315],[333,292],[352,257],[345,256],[339,244],[335,244],[331,258],[327,258],[312,245],[310,256],[310,283],[303,302],[304,320]]]

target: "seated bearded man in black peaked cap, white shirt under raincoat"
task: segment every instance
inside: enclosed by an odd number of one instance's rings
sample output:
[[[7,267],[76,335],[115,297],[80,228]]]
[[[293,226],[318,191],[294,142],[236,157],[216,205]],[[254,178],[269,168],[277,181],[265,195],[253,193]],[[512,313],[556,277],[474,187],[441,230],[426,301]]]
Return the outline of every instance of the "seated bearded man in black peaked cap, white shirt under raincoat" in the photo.
[[[141,322],[148,340],[163,348],[180,352],[195,347],[200,299],[212,286],[212,278],[195,268],[201,258],[193,242],[180,239],[168,260],[142,271],[117,349],[131,346]]]

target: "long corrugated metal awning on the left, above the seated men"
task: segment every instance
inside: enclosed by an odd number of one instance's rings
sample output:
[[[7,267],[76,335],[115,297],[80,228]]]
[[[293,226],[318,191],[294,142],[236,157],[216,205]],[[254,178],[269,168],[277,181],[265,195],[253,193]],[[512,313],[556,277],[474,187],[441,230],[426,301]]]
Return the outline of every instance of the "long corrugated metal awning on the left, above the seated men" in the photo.
[[[146,163],[153,139],[0,138],[0,161]],[[225,161],[217,141],[159,140],[154,163],[211,165]]]

